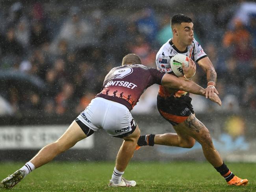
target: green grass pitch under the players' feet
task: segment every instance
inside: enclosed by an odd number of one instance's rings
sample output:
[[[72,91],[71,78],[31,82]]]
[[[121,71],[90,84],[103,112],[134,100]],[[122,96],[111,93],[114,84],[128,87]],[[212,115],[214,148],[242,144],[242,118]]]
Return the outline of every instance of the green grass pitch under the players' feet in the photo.
[[[51,162],[33,171],[13,192],[255,192],[256,164],[226,163],[247,186],[228,186],[207,162],[131,162],[124,177],[137,181],[131,188],[110,188],[114,162]],[[1,163],[0,180],[24,163]],[[6,191],[0,189],[0,191]]]

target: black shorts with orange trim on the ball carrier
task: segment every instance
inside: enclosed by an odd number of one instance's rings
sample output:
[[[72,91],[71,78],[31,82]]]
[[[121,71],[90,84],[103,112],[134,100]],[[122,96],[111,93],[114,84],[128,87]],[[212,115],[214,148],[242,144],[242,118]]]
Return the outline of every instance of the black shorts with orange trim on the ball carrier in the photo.
[[[158,95],[157,108],[161,116],[173,126],[176,126],[184,122],[191,113],[195,113],[191,105],[191,100],[192,98],[189,97],[189,93],[179,98],[174,96],[162,98]]]

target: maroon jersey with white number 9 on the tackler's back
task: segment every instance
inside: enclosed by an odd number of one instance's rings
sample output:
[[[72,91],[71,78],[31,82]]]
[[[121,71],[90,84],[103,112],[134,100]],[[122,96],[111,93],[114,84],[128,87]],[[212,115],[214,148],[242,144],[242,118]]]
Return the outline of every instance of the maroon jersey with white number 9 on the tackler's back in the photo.
[[[110,70],[96,97],[121,103],[130,111],[151,85],[161,85],[165,73],[143,65],[124,65]]]

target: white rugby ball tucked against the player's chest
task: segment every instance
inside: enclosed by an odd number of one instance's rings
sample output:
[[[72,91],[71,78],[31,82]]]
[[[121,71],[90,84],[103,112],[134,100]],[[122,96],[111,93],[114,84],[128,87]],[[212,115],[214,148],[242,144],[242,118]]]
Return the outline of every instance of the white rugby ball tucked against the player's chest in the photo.
[[[186,67],[189,66],[188,57],[186,55],[177,54],[171,58],[171,68],[174,74],[179,78],[184,76],[182,63],[184,63]]]

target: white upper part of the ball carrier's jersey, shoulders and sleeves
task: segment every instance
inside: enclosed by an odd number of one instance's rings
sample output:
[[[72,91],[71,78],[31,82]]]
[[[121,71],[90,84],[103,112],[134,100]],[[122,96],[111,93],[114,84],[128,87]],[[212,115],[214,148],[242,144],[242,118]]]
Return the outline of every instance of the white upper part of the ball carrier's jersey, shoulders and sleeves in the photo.
[[[174,49],[174,45],[170,44],[169,42],[172,39],[169,39],[163,46],[160,48],[158,53],[156,54],[156,67],[162,72],[171,72],[170,61],[174,55],[178,54],[178,52]],[[192,44],[187,46],[187,52],[182,53],[187,57],[190,57],[194,61],[197,61],[201,57],[206,56],[204,50],[202,49],[201,45],[194,39]]]

